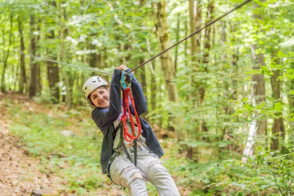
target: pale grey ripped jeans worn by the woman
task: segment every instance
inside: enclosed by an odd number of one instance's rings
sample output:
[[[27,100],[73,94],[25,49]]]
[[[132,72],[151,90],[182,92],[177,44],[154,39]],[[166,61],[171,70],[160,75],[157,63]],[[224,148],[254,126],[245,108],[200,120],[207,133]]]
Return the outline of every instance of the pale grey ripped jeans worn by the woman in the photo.
[[[128,160],[123,150],[110,166],[112,181],[129,189],[130,196],[148,196],[146,180],[157,189],[160,196],[179,196],[180,193],[169,171],[161,164],[158,156],[143,146],[137,146],[137,167],[134,162],[134,147],[127,148],[132,160]]]

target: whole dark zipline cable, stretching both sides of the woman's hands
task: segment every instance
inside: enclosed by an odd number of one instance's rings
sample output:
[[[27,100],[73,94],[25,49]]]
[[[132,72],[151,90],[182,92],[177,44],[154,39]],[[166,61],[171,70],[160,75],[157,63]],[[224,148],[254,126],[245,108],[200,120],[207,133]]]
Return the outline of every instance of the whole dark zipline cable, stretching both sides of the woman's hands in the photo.
[[[239,9],[240,7],[242,7],[243,5],[245,5],[246,3],[250,2],[251,0],[246,0],[244,1],[243,3],[241,3],[240,5],[238,5],[237,7],[231,9],[230,11],[228,11],[227,13],[221,15],[219,18],[213,20],[212,22],[208,23],[207,25],[205,25],[204,27],[202,28],[199,28],[198,30],[196,30],[195,32],[193,32],[192,34],[190,34],[189,36],[185,37],[184,39],[178,41],[177,43],[175,43],[174,45],[172,45],[171,47],[167,48],[166,50],[162,51],[161,53],[159,53],[158,55],[156,56],[153,56],[152,58],[149,58],[147,61],[143,62],[142,64],[138,65],[137,67],[135,67],[134,69],[130,70],[129,72],[127,72],[127,74],[135,71],[136,69],[138,69],[139,67],[145,65],[146,63],[150,62],[151,60],[153,60],[154,58],[158,57],[158,56],[161,56],[162,54],[166,53],[167,51],[171,50],[173,47],[179,45],[180,43],[182,43],[183,41],[185,41],[186,39],[192,37],[193,35],[199,33],[201,30],[203,30],[204,28],[208,28],[209,26],[211,26],[212,24],[214,24],[215,22],[221,20],[223,17],[225,17],[226,15],[230,14],[231,12],[235,11],[236,9]],[[23,51],[21,51],[22,54]],[[24,54],[24,55],[29,55],[29,56],[32,56],[32,57],[35,57],[35,58],[40,58],[40,59],[43,59],[43,60],[47,60],[47,61],[51,61],[51,62],[56,62],[56,63],[60,63],[60,64],[64,64],[64,65],[69,65],[69,66],[73,66],[73,67],[78,67],[78,68],[82,68],[82,69],[88,69],[88,70],[91,70],[91,71],[95,71],[95,72],[100,72],[100,73],[104,73],[104,74],[109,74],[109,75],[113,75],[112,73],[108,73],[108,72],[104,72],[104,71],[99,71],[99,70],[95,70],[95,69],[90,69],[90,68],[86,68],[86,67],[80,67],[80,66],[76,66],[76,65],[72,65],[72,64],[69,64],[69,63],[63,63],[63,62],[59,62],[59,61],[56,61],[56,60],[51,60],[51,59],[48,59],[48,58],[43,58],[43,57],[40,57],[40,56],[34,56],[34,55],[31,55],[31,54]]]

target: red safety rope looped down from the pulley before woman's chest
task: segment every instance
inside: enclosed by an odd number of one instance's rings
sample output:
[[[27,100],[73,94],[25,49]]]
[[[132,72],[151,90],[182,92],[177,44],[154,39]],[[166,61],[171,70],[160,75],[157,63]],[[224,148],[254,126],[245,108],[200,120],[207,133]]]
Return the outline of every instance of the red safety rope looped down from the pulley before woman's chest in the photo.
[[[130,98],[131,103],[132,103],[133,108],[134,108],[134,114],[135,114],[137,127],[138,127],[138,136],[137,137],[134,137],[135,136],[135,123],[134,123],[133,116],[130,113],[128,98]],[[126,109],[129,112],[130,117],[128,117],[128,115],[126,114]],[[133,132],[132,134],[129,134],[127,132],[127,126],[126,126],[126,120],[127,119],[130,119],[131,128],[132,128],[132,132]],[[122,115],[121,120],[123,122],[123,137],[124,137],[124,139],[126,141],[136,140],[137,138],[140,137],[140,135],[141,135],[141,123],[140,123],[140,119],[139,119],[138,113],[137,113],[136,108],[135,108],[134,97],[132,95],[130,87],[127,87],[126,89],[123,90],[123,115]]]

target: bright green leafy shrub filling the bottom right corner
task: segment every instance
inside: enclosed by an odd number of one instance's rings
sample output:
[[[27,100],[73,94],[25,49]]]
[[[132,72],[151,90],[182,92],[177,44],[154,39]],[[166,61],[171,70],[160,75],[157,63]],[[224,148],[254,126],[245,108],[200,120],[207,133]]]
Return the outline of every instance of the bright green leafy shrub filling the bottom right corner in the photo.
[[[224,166],[240,166],[247,170],[242,174],[245,180],[238,182],[212,183],[205,187],[237,186],[240,192],[267,193],[271,196],[292,196],[294,194],[294,147],[286,148],[289,153],[265,150],[260,145],[248,163],[239,160],[224,161]],[[205,188],[204,187],[204,188]]]

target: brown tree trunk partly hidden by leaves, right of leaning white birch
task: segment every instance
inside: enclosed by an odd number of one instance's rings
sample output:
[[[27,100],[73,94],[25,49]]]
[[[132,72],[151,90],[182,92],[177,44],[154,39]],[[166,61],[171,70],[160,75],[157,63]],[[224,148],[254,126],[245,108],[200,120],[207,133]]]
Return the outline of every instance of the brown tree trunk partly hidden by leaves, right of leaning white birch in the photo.
[[[277,50],[275,50],[272,54],[272,56],[277,56]],[[276,59],[276,64],[279,64],[279,59]],[[282,102],[281,99],[281,81],[277,81],[277,77],[281,75],[281,72],[279,71],[273,71],[273,75],[270,78],[271,82],[271,89],[272,89],[272,97],[274,99],[274,102]],[[285,140],[285,127],[284,127],[284,121],[281,119],[274,119],[273,125],[272,125],[272,137],[271,137],[271,145],[270,150],[277,150],[279,147],[279,136],[282,136],[283,140]],[[280,134],[275,135],[275,133],[280,132]]]

